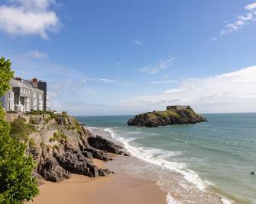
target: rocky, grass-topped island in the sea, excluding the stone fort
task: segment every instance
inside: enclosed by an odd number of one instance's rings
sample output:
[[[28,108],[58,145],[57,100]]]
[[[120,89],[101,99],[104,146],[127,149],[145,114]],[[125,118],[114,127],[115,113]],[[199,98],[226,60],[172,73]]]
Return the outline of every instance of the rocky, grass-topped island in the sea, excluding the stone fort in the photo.
[[[128,120],[128,126],[157,127],[175,124],[193,124],[206,121],[206,118],[195,113],[191,107],[186,110],[165,110],[142,113]]]

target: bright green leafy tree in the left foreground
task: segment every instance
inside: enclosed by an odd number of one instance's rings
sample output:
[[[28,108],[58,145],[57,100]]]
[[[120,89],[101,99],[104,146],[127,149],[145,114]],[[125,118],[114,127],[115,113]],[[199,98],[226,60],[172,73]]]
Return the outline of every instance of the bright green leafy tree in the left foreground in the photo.
[[[11,62],[0,58],[0,97],[10,88],[13,75]],[[10,124],[0,106],[0,203],[18,204],[38,194],[37,180],[31,175],[35,164],[25,149],[24,143],[11,138]]]

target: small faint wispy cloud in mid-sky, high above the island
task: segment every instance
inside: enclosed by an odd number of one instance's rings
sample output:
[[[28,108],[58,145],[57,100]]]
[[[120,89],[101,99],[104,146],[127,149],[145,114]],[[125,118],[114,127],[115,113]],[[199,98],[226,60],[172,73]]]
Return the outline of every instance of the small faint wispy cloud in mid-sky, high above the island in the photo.
[[[173,65],[175,57],[169,56],[167,59],[161,60],[155,65],[147,65],[144,68],[139,69],[141,73],[148,73],[150,75],[155,75],[161,70],[167,69]]]

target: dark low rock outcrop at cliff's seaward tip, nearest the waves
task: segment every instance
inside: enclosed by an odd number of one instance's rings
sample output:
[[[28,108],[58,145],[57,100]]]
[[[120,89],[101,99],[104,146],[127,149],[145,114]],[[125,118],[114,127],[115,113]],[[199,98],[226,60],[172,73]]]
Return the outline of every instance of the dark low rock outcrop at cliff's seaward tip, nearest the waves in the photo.
[[[115,153],[115,154],[118,154],[118,155],[128,156],[127,153],[125,153],[124,151],[120,150],[122,148],[122,146],[115,145],[114,142],[111,142],[111,141],[109,141],[107,139],[103,139],[99,135],[96,135],[96,137],[95,136],[89,137],[88,138],[88,143],[93,148],[101,149],[103,151]]]

